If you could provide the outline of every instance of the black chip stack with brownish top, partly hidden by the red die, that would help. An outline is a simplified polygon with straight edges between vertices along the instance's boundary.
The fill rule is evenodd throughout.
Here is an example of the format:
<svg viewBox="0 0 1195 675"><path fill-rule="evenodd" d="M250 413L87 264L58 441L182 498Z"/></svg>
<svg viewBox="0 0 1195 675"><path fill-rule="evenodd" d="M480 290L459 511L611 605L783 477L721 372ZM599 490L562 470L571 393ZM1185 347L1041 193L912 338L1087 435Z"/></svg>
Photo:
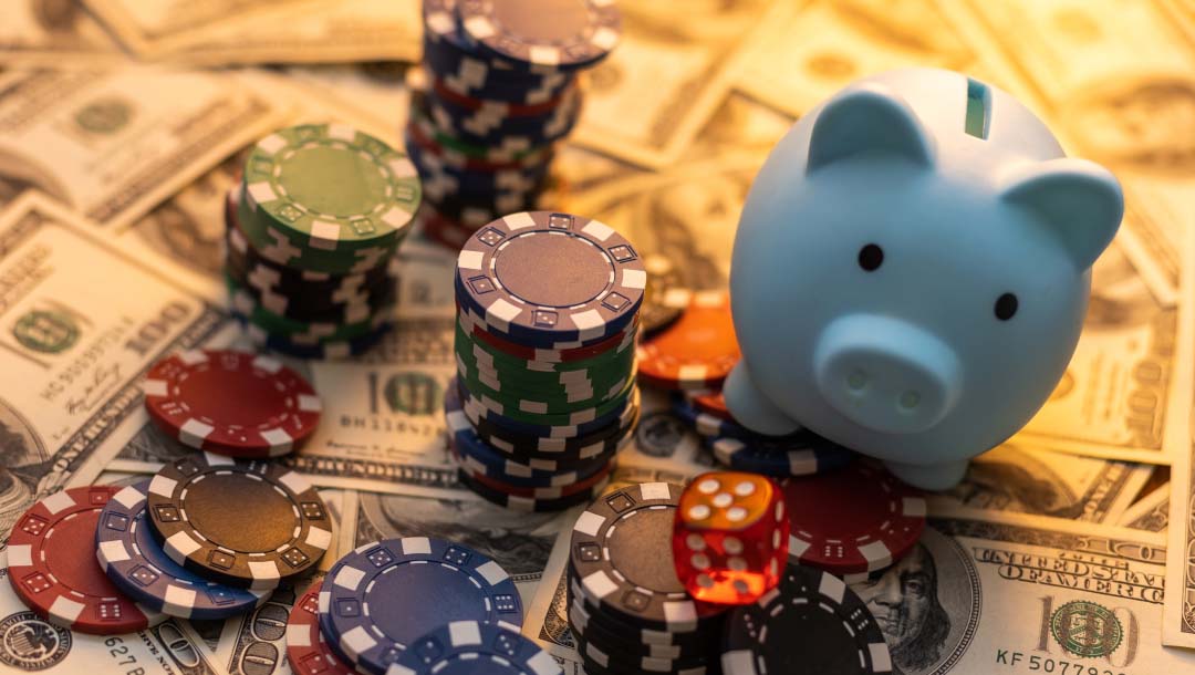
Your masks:
<svg viewBox="0 0 1195 675"><path fill-rule="evenodd" d="M568 612L588 675L719 673L730 607L693 600L673 565L682 491L668 483L630 485L577 518Z"/></svg>

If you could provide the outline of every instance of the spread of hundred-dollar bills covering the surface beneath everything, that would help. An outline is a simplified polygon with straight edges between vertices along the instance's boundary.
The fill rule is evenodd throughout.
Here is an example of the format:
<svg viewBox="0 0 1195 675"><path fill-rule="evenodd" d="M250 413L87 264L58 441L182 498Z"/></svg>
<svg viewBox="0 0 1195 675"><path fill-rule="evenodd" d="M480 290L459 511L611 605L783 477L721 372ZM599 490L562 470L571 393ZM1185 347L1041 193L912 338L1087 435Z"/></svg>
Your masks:
<svg viewBox="0 0 1195 675"><path fill-rule="evenodd" d="M856 590L906 675L1195 673L1195 1L621 8L625 39L590 73L582 125L556 164L558 207L673 258L693 288L725 284L739 210L772 145L869 73L974 74L1117 174L1128 213L1096 265L1062 383L932 501L918 552ZM0 530L37 496L129 480L180 452L147 424L136 381L166 351L235 339L219 266L239 153L284 123L333 118L397 145L418 53L417 0L0 4ZM557 536L575 514L515 517L455 483L429 395L452 373L454 256L409 240L402 258L398 331L360 362L307 366L327 410L294 465L327 487L342 550L425 533L498 559L529 607L525 633L578 671ZM81 326L38 360L22 356L37 336L13 311L33 288ZM112 348L129 344L142 358ZM664 401L651 405L619 479L709 466ZM0 624L26 612L7 589ZM66 636L51 668L286 673L294 595L223 625ZM1073 600L1120 619L1119 649L1079 659L1044 638ZM49 663L13 653L0 645L0 669Z"/></svg>

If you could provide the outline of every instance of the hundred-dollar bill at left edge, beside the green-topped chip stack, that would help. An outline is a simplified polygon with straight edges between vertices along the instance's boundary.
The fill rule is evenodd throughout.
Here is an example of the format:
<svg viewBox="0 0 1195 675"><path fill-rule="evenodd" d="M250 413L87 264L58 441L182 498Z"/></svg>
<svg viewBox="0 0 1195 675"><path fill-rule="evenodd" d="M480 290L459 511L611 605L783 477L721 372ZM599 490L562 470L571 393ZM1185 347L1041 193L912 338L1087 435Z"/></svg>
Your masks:
<svg viewBox="0 0 1195 675"><path fill-rule="evenodd" d="M0 214L0 532L35 498L91 483L143 416L141 375L212 339L222 313L170 268L111 247L37 195Z"/></svg>

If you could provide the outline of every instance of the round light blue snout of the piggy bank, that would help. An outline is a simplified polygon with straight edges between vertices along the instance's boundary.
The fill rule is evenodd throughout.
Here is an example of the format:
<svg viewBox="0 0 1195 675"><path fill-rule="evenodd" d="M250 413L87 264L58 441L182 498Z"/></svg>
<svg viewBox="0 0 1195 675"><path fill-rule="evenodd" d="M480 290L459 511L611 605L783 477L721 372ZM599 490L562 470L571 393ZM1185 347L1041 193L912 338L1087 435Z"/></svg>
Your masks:
<svg viewBox="0 0 1195 675"><path fill-rule="evenodd" d="M901 319L839 318L814 351L822 398L860 427L912 434L940 422L962 391L958 356L942 339Z"/></svg>

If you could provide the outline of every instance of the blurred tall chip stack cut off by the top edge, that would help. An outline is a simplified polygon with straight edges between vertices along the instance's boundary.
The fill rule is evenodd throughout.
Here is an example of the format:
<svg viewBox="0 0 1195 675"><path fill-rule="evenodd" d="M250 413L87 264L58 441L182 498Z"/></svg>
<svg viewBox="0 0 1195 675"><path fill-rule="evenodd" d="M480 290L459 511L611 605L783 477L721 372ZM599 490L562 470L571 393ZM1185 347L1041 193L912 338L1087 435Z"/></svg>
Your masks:
<svg viewBox="0 0 1195 675"><path fill-rule="evenodd" d="M423 25L406 146L424 233L458 248L540 202L581 113L577 75L614 48L621 17L609 0L424 0Z"/></svg>

